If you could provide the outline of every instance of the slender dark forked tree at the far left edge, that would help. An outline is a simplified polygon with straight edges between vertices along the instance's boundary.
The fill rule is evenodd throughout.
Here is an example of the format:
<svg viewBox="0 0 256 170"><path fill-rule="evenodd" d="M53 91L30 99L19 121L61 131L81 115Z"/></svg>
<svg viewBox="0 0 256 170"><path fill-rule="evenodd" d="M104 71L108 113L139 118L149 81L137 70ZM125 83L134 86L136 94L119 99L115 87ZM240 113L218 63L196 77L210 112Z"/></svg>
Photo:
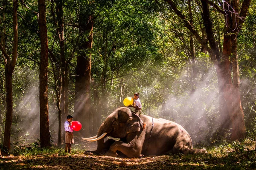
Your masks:
<svg viewBox="0 0 256 170"><path fill-rule="evenodd" d="M18 20L17 20L18 0L13 0L13 48L12 59L6 53L4 45L0 43L0 49L3 53L5 62L5 76L6 76L6 123L3 138L3 146L7 150L11 149L11 127L12 127L12 113L13 113L13 98L12 98L12 74L17 61L17 47L18 47Z"/></svg>

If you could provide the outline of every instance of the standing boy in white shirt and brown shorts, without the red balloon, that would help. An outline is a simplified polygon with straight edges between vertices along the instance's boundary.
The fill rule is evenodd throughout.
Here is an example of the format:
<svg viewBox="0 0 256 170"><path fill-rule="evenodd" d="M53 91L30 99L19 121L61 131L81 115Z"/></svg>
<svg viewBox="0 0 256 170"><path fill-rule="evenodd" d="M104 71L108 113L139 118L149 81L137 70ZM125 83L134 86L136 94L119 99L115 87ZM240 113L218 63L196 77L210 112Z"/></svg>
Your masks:
<svg viewBox="0 0 256 170"><path fill-rule="evenodd" d="M71 144L74 143L73 129L71 128L72 119L73 119L73 116L68 115L67 121L64 123L64 128L66 131L65 133L65 143L66 143L65 152L66 153L67 153L67 149L68 149L68 153L71 152Z"/></svg>

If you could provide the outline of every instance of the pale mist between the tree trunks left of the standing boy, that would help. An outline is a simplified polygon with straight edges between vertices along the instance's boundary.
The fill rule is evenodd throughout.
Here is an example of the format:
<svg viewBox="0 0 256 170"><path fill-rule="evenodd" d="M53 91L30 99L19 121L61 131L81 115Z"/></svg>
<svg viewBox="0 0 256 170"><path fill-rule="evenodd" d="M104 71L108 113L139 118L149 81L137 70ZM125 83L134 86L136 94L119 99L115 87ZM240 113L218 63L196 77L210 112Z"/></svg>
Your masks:
<svg viewBox="0 0 256 170"><path fill-rule="evenodd" d="M27 71L27 70L25 70ZM37 73L26 74L27 89L17 102L14 102L12 141L21 143L38 142L40 139L40 108L39 108L39 79ZM36 77L36 78L35 78ZM53 142L58 141L58 109L50 96L55 95L48 89L49 130Z"/></svg>

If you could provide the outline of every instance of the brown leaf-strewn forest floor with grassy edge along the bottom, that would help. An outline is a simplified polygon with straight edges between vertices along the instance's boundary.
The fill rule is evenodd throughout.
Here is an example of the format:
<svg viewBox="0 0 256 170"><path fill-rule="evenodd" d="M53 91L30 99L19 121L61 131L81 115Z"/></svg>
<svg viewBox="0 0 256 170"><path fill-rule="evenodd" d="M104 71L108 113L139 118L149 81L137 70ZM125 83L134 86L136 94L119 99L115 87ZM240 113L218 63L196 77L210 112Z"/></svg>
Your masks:
<svg viewBox="0 0 256 170"><path fill-rule="evenodd" d="M63 149L55 153L39 153L33 156L0 157L1 170L189 170L189 169L256 169L256 142L233 143L207 148L206 155L143 156L141 158L115 158L83 154L75 147L71 154ZM93 146L95 147L95 146Z"/></svg>

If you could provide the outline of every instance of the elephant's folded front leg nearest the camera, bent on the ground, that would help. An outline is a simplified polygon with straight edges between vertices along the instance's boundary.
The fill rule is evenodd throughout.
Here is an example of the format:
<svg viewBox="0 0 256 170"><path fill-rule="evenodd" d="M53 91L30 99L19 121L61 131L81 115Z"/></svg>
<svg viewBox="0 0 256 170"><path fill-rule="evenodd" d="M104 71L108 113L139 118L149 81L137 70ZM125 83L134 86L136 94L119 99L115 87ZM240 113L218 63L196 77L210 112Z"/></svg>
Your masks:
<svg viewBox="0 0 256 170"><path fill-rule="evenodd" d="M107 153L105 153L105 155L117 157L117 150L125 154L128 158L139 157L141 153L141 149L139 149L136 145L116 141L111 145L110 149Z"/></svg>

